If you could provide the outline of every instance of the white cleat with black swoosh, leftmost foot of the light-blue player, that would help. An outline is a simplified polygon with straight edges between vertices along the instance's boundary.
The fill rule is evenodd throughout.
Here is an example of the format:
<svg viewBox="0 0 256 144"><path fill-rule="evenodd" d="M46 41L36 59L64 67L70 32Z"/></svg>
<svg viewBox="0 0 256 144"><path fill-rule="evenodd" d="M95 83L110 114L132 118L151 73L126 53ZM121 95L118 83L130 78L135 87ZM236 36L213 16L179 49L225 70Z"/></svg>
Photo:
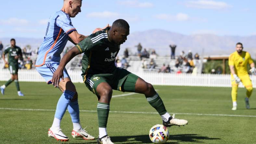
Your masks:
<svg viewBox="0 0 256 144"><path fill-rule="evenodd" d="M69 138L62 133L62 130L60 128L55 129L50 127L48 131L48 137L52 137L60 141L69 141Z"/></svg>

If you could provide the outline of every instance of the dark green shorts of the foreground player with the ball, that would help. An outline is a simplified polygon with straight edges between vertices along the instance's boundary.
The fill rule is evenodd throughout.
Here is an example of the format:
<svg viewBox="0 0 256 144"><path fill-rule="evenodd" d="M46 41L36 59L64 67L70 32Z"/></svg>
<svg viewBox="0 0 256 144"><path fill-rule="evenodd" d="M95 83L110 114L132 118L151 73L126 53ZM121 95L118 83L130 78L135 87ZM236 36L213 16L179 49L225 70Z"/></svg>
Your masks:
<svg viewBox="0 0 256 144"><path fill-rule="evenodd" d="M113 90L122 92L135 92L135 84L138 76L127 71L126 69L117 67L110 74L87 75L85 80L86 87L98 96L97 86L102 82L107 82Z"/></svg>

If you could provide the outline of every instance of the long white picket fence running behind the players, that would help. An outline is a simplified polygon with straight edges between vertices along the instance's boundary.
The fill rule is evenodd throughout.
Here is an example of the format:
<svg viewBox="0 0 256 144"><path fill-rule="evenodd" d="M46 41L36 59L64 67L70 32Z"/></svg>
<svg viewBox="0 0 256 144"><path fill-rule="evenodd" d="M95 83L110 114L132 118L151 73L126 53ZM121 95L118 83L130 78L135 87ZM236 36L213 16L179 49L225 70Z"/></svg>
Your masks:
<svg viewBox="0 0 256 144"><path fill-rule="evenodd" d="M68 71L72 82L83 82L81 71ZM172 86L205 86L205 87L231 87L230 75L211 74L171 74L171 73L136 73L139 77L153 85ZM0 70L0 80L6 81L10 78L8 69ZM250 76L252 85L256 88L256 76ZM45 82L44 78L35 70L19 70L19 81ZM239 87L243 87L242 83Z"/></svg>

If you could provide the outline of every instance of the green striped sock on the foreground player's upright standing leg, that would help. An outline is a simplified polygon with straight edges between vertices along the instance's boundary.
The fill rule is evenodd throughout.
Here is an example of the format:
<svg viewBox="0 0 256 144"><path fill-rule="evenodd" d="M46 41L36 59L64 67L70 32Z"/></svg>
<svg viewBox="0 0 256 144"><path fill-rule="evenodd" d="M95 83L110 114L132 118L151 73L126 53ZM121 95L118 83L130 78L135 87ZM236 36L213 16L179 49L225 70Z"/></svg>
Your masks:
<svg viewBox="0 0 256 144"><path fill-rule="evenodd" d="M97 112L99 127L107 127L109 117L109 103L98 102Z"/></svg>

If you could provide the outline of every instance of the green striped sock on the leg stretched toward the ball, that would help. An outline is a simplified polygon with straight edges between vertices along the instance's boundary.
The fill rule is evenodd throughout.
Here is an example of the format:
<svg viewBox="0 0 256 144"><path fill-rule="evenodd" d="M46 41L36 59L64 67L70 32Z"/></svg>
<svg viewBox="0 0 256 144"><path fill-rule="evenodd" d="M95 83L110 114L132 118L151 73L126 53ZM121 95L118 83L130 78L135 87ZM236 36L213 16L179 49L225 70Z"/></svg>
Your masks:
<svg viewBox="0 0 256 144"><path fill-rule="evenodd" d="M163 101L159 97L158 93L156 93L152 97L147 97L147 102L149 102L149 104L153 108L155 108L160 115L163 115L167 112L166 109L165 109L165 106L163 104Z"/></svg>

